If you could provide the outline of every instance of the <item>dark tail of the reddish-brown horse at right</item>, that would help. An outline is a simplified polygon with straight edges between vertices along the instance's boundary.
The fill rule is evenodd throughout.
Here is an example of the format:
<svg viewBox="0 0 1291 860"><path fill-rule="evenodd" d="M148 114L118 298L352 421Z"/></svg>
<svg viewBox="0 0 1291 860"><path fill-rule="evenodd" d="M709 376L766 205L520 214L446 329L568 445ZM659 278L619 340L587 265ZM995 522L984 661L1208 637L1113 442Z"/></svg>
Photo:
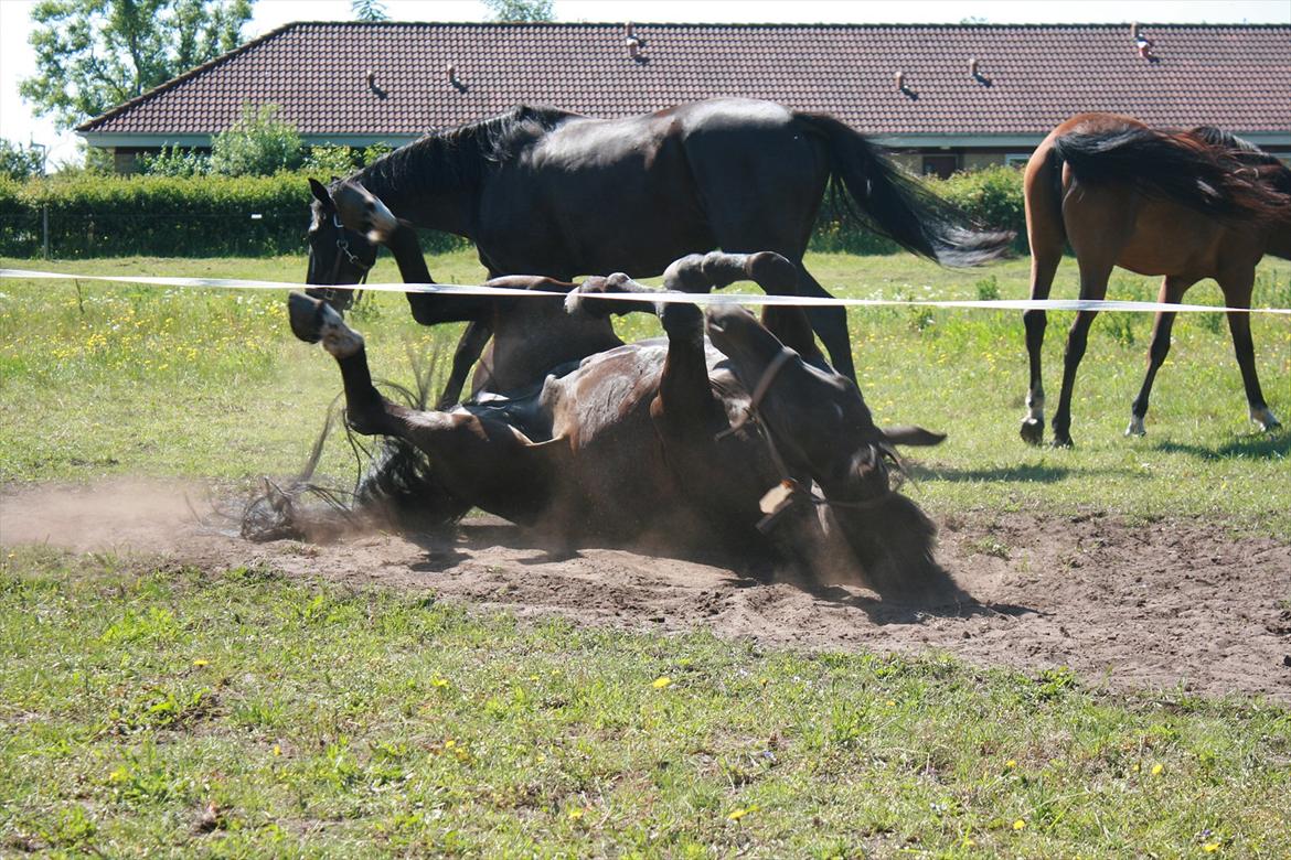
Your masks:
<svg viewBox="0 0 1291 860"><path fill-rule="evenodd" d="M1291 211L1291 196L1265 182L1238 148L1190 134L1127 128L1064 134L1053 152L1081 182L1124 182L1223 220L1268 220Z"/></svg>

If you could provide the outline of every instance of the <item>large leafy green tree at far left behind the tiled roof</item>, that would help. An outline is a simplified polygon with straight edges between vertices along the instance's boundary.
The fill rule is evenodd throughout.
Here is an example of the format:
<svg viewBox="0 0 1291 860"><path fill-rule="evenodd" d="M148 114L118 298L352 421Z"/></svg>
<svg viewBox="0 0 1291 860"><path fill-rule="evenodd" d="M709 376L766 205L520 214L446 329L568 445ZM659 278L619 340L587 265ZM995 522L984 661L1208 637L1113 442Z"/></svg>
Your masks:
<svg viewBox="0 0 1291 860"><path fill-rule="evenodd" d="M68 128L232 50L254 0L40 0L18 92Z"/></svg>

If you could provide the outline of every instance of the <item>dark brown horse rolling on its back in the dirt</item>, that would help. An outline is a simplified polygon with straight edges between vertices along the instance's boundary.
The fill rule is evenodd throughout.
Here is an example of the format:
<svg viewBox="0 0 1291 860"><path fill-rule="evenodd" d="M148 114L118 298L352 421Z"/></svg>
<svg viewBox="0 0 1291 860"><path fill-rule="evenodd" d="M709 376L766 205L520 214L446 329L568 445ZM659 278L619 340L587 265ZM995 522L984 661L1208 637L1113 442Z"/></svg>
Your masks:
<svg viewBox="0 0 1291 860"><path fill-rule="evenodd" d="M336 200L345 223L391 248L404 277L429 276L409 226L380 200L352 183ZM714 251L670 264L664 290L621 273L581 285L510 279L513 288L565 293L555 300L571 316L657 313L666 338L545 366L537 386L451 410L385 400L372 386L361 335L328 303L294 293L289 318L298 337L321 340L336 357L350 425L427 456L422 504L449 518L479 507L560 548L651 540L683 554L769 554L813 571L859 566L884 596L945 593L953 584L932 558L935 529L892 486L893 445L935 445L944 436L877 427L856 386L825 362L800 308L768 308L759 324L740 308L705 315L652 300L741 280L773 290L797 277L778 254ZM598 300L605 293L642 300ZM492 304L503 324L531 318L518 302L551 300L440 298L461 299L463 317ZM513 331L500 326L498 340ZM514 346L522 364L551 360L533 339ZM778 493L769 503L768 489Z"/></svg>

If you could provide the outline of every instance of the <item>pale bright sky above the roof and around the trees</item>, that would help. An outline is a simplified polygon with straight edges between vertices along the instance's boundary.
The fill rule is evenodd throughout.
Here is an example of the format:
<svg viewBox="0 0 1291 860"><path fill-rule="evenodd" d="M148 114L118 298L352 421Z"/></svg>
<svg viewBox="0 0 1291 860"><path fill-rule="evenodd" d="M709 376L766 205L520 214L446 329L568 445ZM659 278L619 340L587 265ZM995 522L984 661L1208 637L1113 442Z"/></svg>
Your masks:
<svg viewBox="0 0 1291 860"><path fill-rule="evenodd" d="M0 0L0 137L49 147L49 164L77 159L72 133L32 115L18 81L35 72L27 44L35 0ZM394 21L487 21L478 0L383 0ZM1291 23L1291 0L555 0L556 21L705 23ZM258 0L243 35L292 21L349 21L350 0Z"/></svg>

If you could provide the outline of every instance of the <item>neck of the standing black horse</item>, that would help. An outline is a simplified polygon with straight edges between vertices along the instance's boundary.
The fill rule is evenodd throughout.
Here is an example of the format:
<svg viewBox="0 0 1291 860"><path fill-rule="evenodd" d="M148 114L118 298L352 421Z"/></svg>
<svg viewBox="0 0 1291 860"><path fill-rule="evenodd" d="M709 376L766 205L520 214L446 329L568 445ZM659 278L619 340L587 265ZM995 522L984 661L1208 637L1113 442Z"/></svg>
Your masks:
<svg viewBox="0 0 1291 860"><path fill-rule="evenodd" d="M479 188L474 173L461 164L469 157L438 138L423 138L378 159L351 179L413 227L474 240Z"/></svg>

